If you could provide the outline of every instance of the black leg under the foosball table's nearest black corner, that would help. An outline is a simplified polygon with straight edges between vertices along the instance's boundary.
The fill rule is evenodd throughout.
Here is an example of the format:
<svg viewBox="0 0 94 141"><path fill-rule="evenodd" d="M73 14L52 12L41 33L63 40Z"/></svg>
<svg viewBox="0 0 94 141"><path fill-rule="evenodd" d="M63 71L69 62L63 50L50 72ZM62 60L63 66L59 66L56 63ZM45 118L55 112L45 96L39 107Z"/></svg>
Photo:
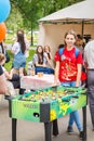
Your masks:
<svg viewBox="0 0 94 141"><path fill-rule="evenodd" d="M45 141L52 141L52 121L44 123Z"/></svg>

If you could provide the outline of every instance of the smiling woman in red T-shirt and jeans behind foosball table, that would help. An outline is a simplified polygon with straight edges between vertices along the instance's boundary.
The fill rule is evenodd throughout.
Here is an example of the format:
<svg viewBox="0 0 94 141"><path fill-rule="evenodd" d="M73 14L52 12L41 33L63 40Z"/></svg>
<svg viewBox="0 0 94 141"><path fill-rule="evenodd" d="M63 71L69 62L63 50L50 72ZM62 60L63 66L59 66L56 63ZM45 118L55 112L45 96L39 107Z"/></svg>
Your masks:
<svg viewBox="0 0 94 141"><path fill-rule="evenodd" d="M79 51L78 56L76 56L76 39L77 35L73 30L68 30L65 34L65 47L63 54L59 55L57 51L54 60L56 62L55 67L55 77L54 77L54 85L57 84L59 79L61 85L65 87L79 87L81 85L81 67L82 67L82 53ZM69 123L67 132L72 133L72 125L73 121L76 123L78 130L80 132L80 139L83 138L83 127L80 121L79 112L75 111L69 115Z"/></svg>

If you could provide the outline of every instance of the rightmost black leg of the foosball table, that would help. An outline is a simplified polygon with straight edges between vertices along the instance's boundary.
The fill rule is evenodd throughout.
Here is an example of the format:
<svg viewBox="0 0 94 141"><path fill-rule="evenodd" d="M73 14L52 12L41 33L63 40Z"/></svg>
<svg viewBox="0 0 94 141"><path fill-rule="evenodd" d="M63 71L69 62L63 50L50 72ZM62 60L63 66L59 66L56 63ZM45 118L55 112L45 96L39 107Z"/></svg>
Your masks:
<svg viewBox="0 0 94 141"><path fill-rule="evenodd" d="M83 112L83 141L86 141L86 106L82 107Z"/></svg>

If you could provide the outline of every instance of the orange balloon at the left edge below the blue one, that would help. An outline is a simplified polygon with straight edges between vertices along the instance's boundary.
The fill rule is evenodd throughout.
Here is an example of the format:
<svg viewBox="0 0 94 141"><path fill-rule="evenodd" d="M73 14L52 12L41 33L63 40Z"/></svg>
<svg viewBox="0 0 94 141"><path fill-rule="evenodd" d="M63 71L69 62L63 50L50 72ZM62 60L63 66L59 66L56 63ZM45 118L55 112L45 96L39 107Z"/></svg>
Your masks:
<svg viewBox="0 0 94 141"><path fill-rule="evenodd" d="M6 27L4 23L0 24L0 42L3 41L3 39L5 38L5 34L6 34Z"/></svg>

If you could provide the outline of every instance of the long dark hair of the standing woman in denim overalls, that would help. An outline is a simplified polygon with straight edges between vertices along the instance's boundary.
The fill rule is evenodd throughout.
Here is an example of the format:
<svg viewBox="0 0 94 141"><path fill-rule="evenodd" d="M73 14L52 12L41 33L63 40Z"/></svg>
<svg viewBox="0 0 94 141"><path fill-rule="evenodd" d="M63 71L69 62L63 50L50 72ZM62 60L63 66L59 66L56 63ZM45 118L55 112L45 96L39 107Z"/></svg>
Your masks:
<svg viewBox="0 0 94 141"><path fill-rule="evenodd" d="M22 52L25 53L26 43L25 43L25 39L24 39L24 34L23 33L17 33L17 41L21 44Z"/></svg>

